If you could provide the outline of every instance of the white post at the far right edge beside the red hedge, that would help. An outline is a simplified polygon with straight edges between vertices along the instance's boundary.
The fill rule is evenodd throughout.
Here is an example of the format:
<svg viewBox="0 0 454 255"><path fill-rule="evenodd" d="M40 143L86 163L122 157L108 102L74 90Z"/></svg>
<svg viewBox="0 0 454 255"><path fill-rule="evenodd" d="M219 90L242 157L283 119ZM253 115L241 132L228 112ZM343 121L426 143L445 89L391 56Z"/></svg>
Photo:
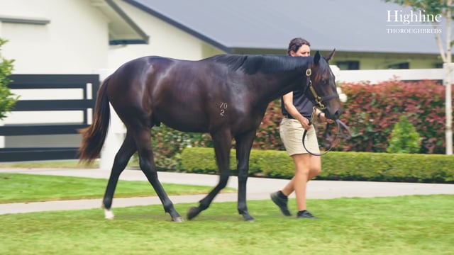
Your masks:
<svg viewBox="0 0 454 255"><path fill-rule="evenodd" d="M451 84L453 84L453 70L454 63L445 63L443 64L443 69L445 70L445 79L443 84L445 85L445 117L446 117L446 126L445 126L445 137L446 137L446 154L453 154L453 98L451 96L452 89Z"/></svg>

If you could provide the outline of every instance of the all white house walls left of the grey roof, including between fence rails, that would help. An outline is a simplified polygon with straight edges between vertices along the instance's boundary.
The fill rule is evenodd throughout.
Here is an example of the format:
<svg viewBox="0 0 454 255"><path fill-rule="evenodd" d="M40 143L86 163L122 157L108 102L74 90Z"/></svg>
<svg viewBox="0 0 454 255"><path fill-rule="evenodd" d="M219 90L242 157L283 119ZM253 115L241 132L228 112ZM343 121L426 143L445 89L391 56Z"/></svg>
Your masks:
<svg viewBox="0 0 454 255"><path fill-rule="evenodd" d="M138 8L116 1L128 16L150 36L148 45L109 46L109 19L93 4L96 0L0 0L0 17L49 21L47 24L0 22L2 57L14 61L13 74L101 74L101 79L124 62L136 57L160 55L199 60L222 53L182 30L160 21ZM55 95L27 95L13 90L22 99ZM70 92L79 97L79 91ZM82 96L81 96L82 97ZM82 116L70 112L12 112L0 125L21 123L78 123ZM78 146L79 135L33 135L0 137L0 147Z"/></svg>

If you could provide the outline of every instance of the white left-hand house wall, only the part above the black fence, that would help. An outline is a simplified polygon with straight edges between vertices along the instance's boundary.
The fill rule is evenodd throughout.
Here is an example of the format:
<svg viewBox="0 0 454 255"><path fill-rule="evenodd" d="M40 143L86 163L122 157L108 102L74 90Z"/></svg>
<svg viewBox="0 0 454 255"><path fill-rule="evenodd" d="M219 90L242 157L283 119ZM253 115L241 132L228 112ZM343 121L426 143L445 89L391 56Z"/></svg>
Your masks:
<svg viewBox="0 0 454 255"><path fill-rule="evenodd" d="M0 0L0 16L50 21L0 22L14 74L95 74L107 66L108 21L89 0Z"/></svg>

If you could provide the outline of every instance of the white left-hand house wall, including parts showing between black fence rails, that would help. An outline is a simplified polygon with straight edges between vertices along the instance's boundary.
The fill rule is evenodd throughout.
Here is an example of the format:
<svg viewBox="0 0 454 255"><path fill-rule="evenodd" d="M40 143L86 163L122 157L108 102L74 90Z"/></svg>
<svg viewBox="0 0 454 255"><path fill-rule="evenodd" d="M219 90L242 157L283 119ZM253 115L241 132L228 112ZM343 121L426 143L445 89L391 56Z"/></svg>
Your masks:
<svg viewBox="0 0 454 255"><path fill-rule="evenodd" d="M45 25L0 22L2 57L13 62L13 74L97 74L108 66L108 19L90 0L0 0L0 17L48 20ZM21 99L83 98L82 91L12 90ZM82 113L11 112L0 125L80 123ZM0 137L0 147L74 147L80 135Z"/></svg>

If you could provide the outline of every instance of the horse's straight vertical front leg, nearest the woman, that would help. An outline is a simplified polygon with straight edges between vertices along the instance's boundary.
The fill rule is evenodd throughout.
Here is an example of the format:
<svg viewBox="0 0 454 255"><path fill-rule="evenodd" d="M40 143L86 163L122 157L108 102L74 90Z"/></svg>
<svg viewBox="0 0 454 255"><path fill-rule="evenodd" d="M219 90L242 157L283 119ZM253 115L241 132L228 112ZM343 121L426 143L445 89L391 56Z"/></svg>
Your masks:
<svg viewBox="0 0 454 255"><path fill-rule="evenodd" d="M246 183L248 181L250 149L253 146L255 130L237 136L236 139L236 160L238 170L238 213L243 215L244 220L253 222L246 204Z"/></svg>

